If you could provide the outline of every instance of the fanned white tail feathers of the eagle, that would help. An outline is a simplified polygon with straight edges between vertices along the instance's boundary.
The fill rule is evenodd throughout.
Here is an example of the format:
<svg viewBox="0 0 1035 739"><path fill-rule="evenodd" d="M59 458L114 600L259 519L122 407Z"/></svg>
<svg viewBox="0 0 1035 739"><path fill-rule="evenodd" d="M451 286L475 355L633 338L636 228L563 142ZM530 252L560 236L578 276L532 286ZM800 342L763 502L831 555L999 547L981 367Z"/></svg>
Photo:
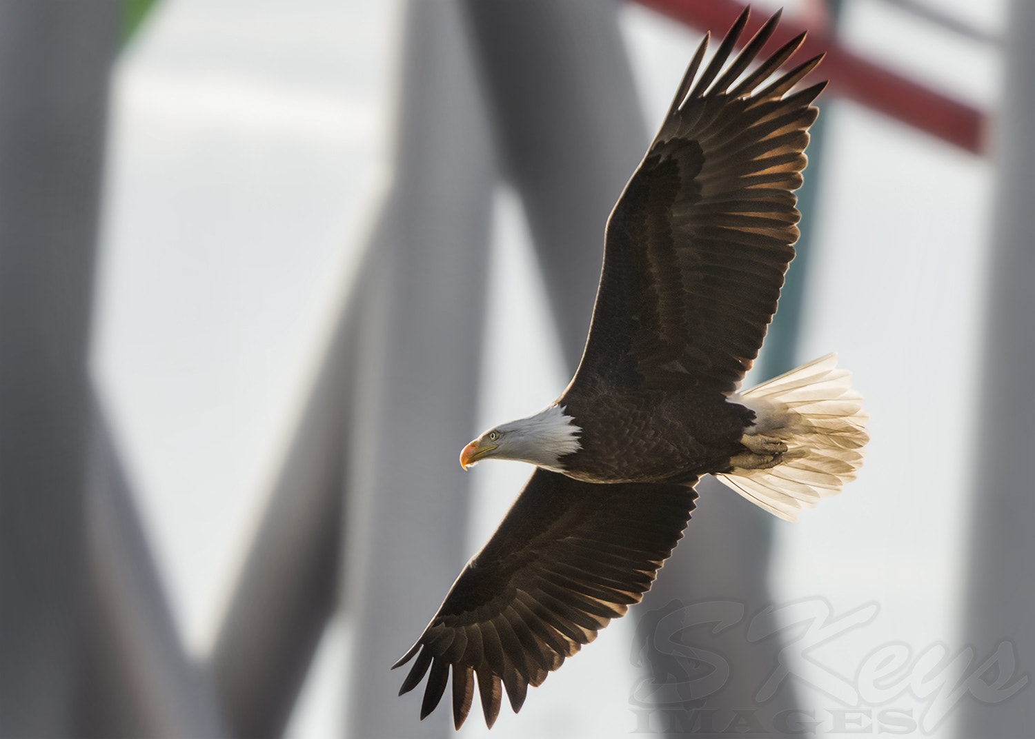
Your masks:
<svg viewBox="0 0 1035 739"><path fill-rule="evenodd" d="M852 375L827 355L730 398L755 411L747 434L763 434L788 445L782 461L768 469L716 474L756 505L787 521L822 497L836 495L855 480L869 440L862 396Z"/></svg>

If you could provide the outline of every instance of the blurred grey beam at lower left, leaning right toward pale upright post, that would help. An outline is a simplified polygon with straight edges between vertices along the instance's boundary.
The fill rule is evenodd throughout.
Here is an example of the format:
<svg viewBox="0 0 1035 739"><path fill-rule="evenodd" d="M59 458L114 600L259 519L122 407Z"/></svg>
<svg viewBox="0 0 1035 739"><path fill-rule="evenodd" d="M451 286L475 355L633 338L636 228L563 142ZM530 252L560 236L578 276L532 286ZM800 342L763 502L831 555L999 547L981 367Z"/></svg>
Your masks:
<svg viewBox="0 0 1035 739"><path fill-rule="evenodd" d="M227 722L241 739L284 733L337 606L347 423L368 278L361 269L342 310L212 654Z"/></svg>

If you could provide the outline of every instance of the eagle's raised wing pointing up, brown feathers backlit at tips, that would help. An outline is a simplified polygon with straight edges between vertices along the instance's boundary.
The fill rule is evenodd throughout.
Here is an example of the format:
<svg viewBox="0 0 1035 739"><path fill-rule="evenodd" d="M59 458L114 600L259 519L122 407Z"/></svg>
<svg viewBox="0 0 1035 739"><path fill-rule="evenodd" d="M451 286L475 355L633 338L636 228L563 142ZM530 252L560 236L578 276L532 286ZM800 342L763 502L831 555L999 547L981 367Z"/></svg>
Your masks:
<svg viewBox="0 0 1035 739"><path fill-rule="evenodd" d="M804 34L738 81L778 16L719 76L745 10L694 84L707 36L698 49L608 221L593 322L572 388L603 380L730 393L758 356L798 239L792 191L801 186L816 120L809 103L826 84L788 94L817 57L761 87Z"/></svg>

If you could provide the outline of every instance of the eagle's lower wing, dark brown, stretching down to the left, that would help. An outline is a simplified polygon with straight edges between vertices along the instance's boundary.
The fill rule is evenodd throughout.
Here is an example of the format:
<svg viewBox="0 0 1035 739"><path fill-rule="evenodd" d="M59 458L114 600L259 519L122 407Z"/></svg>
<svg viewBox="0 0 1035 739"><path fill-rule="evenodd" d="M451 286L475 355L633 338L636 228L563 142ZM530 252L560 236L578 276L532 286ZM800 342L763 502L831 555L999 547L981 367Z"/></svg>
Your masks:
<svg viewBox="0 0 1035 739"><path fill-rule="evenodd" d="M514 711L612 618L625 614L672 554L697 493L683 485L582 483L536 469L492 538L464 568L413 648L400 695L431 669L420 707L438 705L452 671L453 723L478 682L485 722L500 683Z"/></svg>

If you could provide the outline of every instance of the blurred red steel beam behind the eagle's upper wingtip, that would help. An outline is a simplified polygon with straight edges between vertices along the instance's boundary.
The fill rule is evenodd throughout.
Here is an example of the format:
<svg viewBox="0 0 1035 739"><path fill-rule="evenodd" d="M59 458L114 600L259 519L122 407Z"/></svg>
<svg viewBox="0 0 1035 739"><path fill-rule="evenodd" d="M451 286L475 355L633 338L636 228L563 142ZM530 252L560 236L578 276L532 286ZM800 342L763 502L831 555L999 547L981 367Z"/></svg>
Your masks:
<svg viewBox="0 0 1035 739"><path fill-rule="evenodd" d="M736 0L638 1L663 16L694 28L711 29L719 35L744 9L744 4ZM764 13L752 13L741 39L746 42L765 21ZM775 51L804 30L805 27L794 19L781 20L766 50ZM829 78L834 94L880 111L969 152L985 153L987 116L984 112L863 59L824 31L810 30L801 50L796 58L826 53L823 64L814 74Z"/></svg>

